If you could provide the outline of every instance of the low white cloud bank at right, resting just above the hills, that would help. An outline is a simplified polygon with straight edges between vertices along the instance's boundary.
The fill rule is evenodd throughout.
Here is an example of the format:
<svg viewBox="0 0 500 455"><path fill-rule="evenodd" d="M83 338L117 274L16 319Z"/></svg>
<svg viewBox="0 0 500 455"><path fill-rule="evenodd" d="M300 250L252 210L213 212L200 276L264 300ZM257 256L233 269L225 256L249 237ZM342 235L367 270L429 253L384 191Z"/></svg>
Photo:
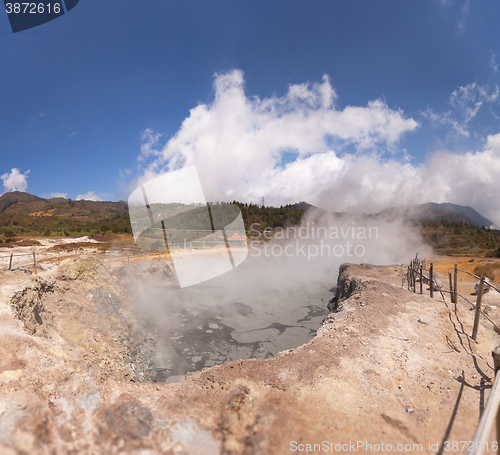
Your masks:
<svg viewBox="0 0 500 455"><path fill-rule="evenodd" d="M306 200L331 211L374 213L385 207L451 202L472 206L500 225L500 134L489 136L484 149L456 155L437 152L414 166L376 155L317 154L276 173L266 200ZM276 201L276 199L275 199ZM270 201L271 202L271 201Z"/></svg>

